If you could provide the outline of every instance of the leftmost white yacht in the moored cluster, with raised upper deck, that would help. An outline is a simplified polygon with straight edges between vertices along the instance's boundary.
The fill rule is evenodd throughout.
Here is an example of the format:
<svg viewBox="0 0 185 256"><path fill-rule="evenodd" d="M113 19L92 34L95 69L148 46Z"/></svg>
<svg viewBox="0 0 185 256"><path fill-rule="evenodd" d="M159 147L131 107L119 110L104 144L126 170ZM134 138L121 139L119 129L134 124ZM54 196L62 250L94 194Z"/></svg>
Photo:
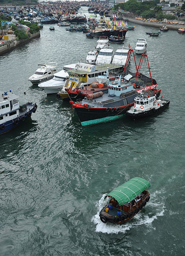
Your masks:
<svg viewBox="0 0 185 256"><path fill-rule="evenodd" d="M39 84L40 82L49 80L56 73L56 62L46 62L45 65L38 64L38 66L40 66L40 68L38 68L36 72L29 77L32 84Z"/></svg>

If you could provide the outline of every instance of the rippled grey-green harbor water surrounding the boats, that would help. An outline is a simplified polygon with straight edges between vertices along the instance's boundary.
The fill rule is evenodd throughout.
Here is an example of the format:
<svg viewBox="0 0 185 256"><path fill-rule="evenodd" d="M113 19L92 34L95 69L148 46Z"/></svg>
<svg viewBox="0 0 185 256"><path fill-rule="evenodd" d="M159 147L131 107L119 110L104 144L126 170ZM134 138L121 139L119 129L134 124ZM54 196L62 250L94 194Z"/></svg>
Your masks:
<svg viewBox="0 0 185 256"><path fill-rule="evenodd" d="M80 10L88 16L87 9ZM124 42L134 48L146 38L151 74L169 108L137 122L82 127L69 102L46 96L28 78L47 61L58 62L58 71L83 62L97 38L49 26L0 56L1 91L38 105L24 126L1 135L0 256L185 255L185 35L169 30L153 38L145 32L157 28L135 24ZM105 194L137 176L151 184L149 203L126 224L103 224Z"/></svg>

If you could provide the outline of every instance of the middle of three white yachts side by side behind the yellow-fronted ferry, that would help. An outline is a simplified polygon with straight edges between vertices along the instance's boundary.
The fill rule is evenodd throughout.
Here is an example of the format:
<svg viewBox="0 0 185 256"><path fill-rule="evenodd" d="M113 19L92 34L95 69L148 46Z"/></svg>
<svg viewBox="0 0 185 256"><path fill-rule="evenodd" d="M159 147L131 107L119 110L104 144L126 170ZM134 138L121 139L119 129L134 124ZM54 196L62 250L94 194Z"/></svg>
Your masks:
<svg viewBox="0 0 185 256"><path fill-rule="evenodd" d="M99 51L96 64L110 64L113 59L113 47L106 46Z"/></svg>

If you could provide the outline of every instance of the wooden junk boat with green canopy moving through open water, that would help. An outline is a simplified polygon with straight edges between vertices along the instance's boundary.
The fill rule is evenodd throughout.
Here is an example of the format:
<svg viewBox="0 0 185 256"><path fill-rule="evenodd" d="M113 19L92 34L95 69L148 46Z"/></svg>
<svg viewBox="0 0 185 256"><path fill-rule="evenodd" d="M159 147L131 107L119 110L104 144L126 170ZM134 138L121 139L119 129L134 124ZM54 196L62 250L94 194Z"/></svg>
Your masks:
<svg viewBox="0 0 185 256"><path fill-rule="evenodd" d="M123 224L131 220L150 199L147 180L132 178L105 196L105 206L99 212L103 223Z"/></svg>

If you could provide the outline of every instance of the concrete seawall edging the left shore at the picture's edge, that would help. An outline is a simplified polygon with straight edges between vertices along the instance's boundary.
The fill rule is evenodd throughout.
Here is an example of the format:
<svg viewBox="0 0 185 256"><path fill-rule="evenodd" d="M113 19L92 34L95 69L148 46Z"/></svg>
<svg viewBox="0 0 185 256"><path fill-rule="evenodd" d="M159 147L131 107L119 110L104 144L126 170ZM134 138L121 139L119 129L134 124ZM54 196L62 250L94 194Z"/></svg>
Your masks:
<svg viewBox="0 0 185 256"><path fill-rule="evenodd" d="M0 47L0 55L5 54L6 52L10 52L14 49L16 49L18 46L22 46L28 42L30 42L33 38L38 38L40 37L40 31L31 34L30 38L25 39L25 40L14 40L13 42L8 42L7 44L3 45Z"/></svg>

